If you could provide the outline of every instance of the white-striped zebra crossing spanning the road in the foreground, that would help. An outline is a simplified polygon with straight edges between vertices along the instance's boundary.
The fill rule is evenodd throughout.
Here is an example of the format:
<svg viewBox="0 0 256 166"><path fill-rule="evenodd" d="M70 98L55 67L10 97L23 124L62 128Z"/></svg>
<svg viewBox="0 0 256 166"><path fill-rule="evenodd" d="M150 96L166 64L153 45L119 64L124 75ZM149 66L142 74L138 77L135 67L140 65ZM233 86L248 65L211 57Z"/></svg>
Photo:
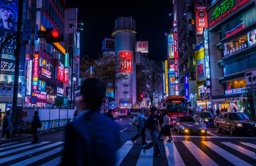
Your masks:
<svg viewBox="0 0 256 166"><path fill-rule="evenodd" d="M3 144L3 146L6 146L6 148L0 152L0 164L4 163L5 165L7 165L9 163L8 165L12 165L12 166L28 165L28 164L52 166L52 165L61 164L62 156L60 155L61 155L61 152L63 151L64 142L62 141L61 142L40 142L37 144L27 145L28 143L29 142L24 142L24 143L10 142L10 143ZM202 141L202 143L217 153L215 154L215 157L213 155L213 158L211 158L211 156L209 155L209 152L206 153L205 151L206 149L202 149L203 147L199 146L199 144L196 142L175 141L175 142L168 142L168 143L164 142L163 144L161 143L161 146L164 146L164 150L165 150L165 154L161 154L161 160L165 160L165 161L167 160L166 163L169 166L187 165L189 164L188 160L190 157L190 156L187 156L187 154L191 152L193 156L190 157L190 159L194 160L193 163L198 163L198 164L200 163L201 165L214 166L214 165L217 165L218 162L221 163L221 161L218 161L218 158L216 157L216 155L224 157L226 159L225 160L226 163L230 163L230 164L232 163L234 165L250 165L250 163L252 164L254 162L254 161L248 161L248 158L243 159L241 155L235 156L231 154L232 152L228 152L227 150L224 150L223 148L221 148L224 145L226 145L232 149L235 149L243 153L246 156L251 157L252 158L251 160L255 160L255 163L256 163L256 155L254 151L248 150L249 148L246 149L232 142L221 142L222 144L224 144L222 146L220 143L216 144L211 141ZM249 146L250 149L251 148L256 149L256 145L253 143L249 143L249 142L240 142L240 143L246 146ZM17 145L17 148L15 148L14 144ZM125 161L127 161L128 158L129 159L134 158L135 160L137 160L137 161L134 161L134 163L136 163L136 166L156 165L155 163L156 161L153 159L153 153L154 153L153 147L146 150L145 153L143 152L143 150L141 150L139 153L138 151L134 153L135 150L138 150L138 148L137 147L133 148L133 146L142 147L142 145L139 145L139 144L134 145L131 141L127 141L118 149L118 151L116 152L116 165L120 165L122 161L124 161L124 159ZM184 146L186 147L185 149L184 149ZM50 157L49 158L50 160L47 159L48 157ZM250 163L247 163L246 161ZM39 164L37 164L38 162Z"/></svg>

